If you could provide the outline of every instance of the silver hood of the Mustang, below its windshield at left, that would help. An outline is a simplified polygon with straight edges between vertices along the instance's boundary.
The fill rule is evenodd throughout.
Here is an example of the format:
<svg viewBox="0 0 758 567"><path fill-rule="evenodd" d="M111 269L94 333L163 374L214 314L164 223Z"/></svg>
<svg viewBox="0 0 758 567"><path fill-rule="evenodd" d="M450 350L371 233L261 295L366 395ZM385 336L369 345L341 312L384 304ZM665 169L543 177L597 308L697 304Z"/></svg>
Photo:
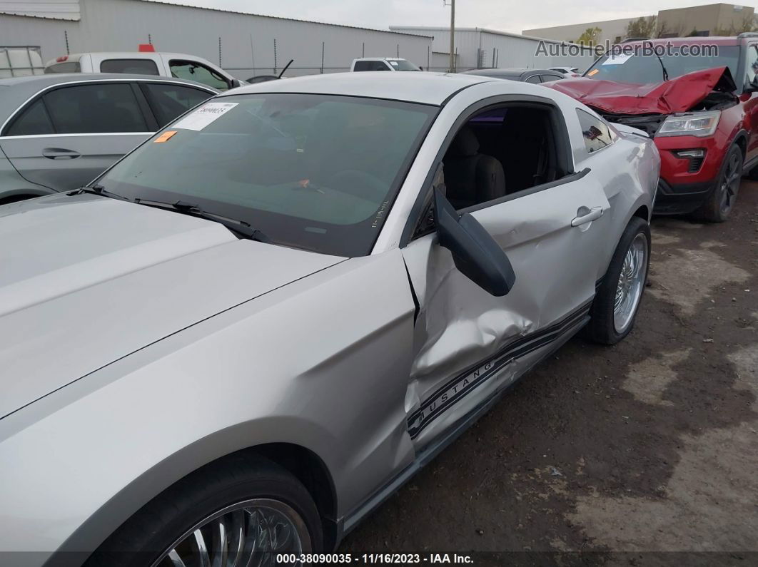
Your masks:
<svg viewBox="0 0 758 567"><path fill-rule="evenodd" d="M98 195L0 207L0 418L341 260Z"/></svg>

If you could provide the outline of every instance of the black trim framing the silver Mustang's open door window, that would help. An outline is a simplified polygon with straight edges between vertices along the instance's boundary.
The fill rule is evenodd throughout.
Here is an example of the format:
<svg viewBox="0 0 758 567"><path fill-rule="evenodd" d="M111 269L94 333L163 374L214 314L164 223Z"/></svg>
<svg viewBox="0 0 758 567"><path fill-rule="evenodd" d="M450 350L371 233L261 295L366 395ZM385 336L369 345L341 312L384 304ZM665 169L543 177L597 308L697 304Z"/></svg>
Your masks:
<svg viewBox="0 0 758 567"><path fill-rule="evenodd" d="M556 104L555 101L550 98L544 98L536 95L497 95L483 98L481 101L477 101L474 104L471 104L471 106L462 111L462 113L459 114L459 116L456 118L453 126L449 129L449 132L447 132L445 139L440 145L440 149L437 151L437 156L434 157L434 162L432 162L432 165L429 168L429 172L424 179L424 183L421 185L421 191L419 191L418 195L416 195L416 199L413 203L413 206L411 207L411 212L406 219L406 226L404 226L402 229L398 248L406 248L406 246L409 245L410 242L412 242L415 238L421 237L421 235L415 235L414 232L416 226L418 226L418 223L421 220L421 215L423 215L427 209L427 204L429 202L427 195L431 191L434 175L437 173L437 168L440 166L447 148L449 148L450 143L453 142L453 138L455 138L456 134L459 132L462 126L464 126L464 124L467 123L468 120L470 120L471 117L473 117L475 114L480 114L481 112L490 110L490 108L494 109L496 107L508 106L509 104L533 104L541 107L547 106L550 108L551 118L553 120L556 120L556 126L558 130L555 132L556 145L558 146L558 148L556 148L556 165L560 171L565 173L559 179L555 179L547 183L542 183L541 185L535 185L534 187L524 189L522 191L513 193L512 195L506 195L505 197L493 199L492 201L486 201L484 203L473 205L472 207L466 207L465 209L461 209L461 211L471 212L473 210L492 207L493 205L506 201L512 201L515 198L533 195L534 193L544 191L558 185L563 185L565 183L570 183L576 179L581 179L581 177L584 177L587 175L587 173L589 173L590 170L588 168L585 168L579 173L576 173L574 170L573 149L571 137L568 135L568 125L565 122L565 117L563 116L560 107Z"/></svg>

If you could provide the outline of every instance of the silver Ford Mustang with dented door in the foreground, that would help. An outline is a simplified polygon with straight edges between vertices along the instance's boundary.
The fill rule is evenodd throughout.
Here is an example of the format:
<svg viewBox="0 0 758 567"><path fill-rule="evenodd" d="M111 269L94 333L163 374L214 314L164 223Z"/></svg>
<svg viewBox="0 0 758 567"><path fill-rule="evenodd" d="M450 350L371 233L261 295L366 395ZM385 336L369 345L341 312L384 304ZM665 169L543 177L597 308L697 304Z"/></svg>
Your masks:
<svg viewBox="0 0 758 567"><path fill-rule="evenodd" d="M630 332L659 156L622 128L528 83L288 79L0 207L0 562L333 550L580 329Z"/></svg>

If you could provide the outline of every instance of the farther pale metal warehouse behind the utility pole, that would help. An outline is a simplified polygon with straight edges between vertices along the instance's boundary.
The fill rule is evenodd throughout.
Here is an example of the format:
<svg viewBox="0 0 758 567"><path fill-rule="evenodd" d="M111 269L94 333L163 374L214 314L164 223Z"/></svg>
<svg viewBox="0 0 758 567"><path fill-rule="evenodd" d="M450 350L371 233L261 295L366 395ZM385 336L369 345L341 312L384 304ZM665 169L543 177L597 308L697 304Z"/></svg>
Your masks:
<svg viewBox="0 0 758 567"><path fill-rule="evenodd" d="M402 33L418 33L432 36L432 51L450 50L450 30L445 27L390 26L390 30ZM456 68L459 71L482 67L531 67L553 66L579 67L584 70L595 60L594 51L570 45L579 55L537 55L540 41L558 48L569 45L553 39L519 36L516 33L485 30L481 27L456 28ZM548 49L547 51L550 51ZM556 51L556 49L553 49Z"/></svg>

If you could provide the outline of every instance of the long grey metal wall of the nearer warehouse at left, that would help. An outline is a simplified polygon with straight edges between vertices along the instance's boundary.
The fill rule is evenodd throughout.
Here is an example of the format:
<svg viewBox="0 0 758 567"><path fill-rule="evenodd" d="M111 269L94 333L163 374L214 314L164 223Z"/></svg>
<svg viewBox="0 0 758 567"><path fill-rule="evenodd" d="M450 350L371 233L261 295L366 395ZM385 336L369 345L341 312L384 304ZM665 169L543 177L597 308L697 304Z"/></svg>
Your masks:
<svg viewBox="0 0 758 567"><path fill-rule="evenodd" d="M424 67L431 62L431 39L406 33L139 0L80 4L80 22L0 15L0 44L39 45L42 58L49 60L67 52L135 51L139 43L152 41L158 51L221 61L221 67L241 79L281 70L291 58L295 62L288 76L322 68L324 73L349 70L352 59L362 55L399 54Z"/></svg>

